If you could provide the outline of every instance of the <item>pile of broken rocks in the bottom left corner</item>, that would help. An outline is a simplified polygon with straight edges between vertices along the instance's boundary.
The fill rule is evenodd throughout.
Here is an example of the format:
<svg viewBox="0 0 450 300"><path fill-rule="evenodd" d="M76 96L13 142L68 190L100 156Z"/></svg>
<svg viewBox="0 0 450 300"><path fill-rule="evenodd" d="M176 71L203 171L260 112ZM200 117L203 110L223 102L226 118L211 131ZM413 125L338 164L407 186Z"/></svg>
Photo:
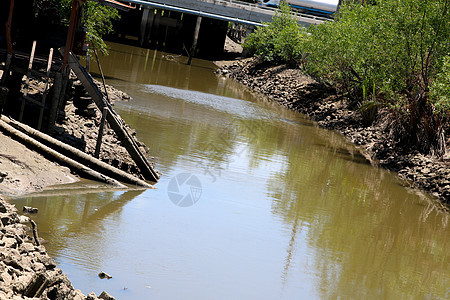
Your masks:
<svg viewBox="0 0 450 300"><path fill-rule="evenodd" d="M34 237L30 218L0 195L0 299L114 299L83 295Z"/></svg>

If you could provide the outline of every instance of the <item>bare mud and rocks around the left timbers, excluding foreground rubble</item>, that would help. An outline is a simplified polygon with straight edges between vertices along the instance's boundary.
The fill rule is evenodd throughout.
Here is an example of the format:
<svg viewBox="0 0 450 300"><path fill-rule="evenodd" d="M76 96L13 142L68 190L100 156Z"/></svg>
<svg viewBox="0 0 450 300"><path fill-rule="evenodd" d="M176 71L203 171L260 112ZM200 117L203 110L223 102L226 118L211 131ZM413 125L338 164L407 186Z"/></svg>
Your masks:
<svg viewBox="0 0 450 300"><path fill-rule="evenodd" d="M107 86L107 91L111 102L130 100L127 94L111 86ZM60 116L53 136L93 156L101 112L84 93L79 82L75 81L68 94L64 114ZM133 129L129 127L127 129L135 135ZM99 158L103 162L142 178L133 159L121 145L114 131L108 128L108 124L104 129L102 140ZM139 141L138 144L142 153L148 153L148 147ZM0 132L0 195L16 197L41 191L48 186L78 180L77 175L71 173L68 168L48 160Z"/></svg>

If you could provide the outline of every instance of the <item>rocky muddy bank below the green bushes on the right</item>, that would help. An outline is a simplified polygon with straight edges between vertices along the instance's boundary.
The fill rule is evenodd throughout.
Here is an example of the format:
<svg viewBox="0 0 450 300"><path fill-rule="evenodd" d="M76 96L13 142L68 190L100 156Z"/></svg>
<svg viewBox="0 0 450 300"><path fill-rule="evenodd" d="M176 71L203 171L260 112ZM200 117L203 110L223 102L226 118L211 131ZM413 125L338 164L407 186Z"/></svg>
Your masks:
<svg viewBox="0 0 450 300"><path fill-rule="evenodd" d="M396 147L396 141L388 138L391 122L387 111L381 109L373 115L362 113L353 108L348 99L305 76L299 69L261 66L254 59L219 62L217 65L219 74L308 115L322 127L341 132L360 147L373 165L397 172L406 184L450 204L448 157L435 158ZM449 142L447 139L447 149Z"/></svg>

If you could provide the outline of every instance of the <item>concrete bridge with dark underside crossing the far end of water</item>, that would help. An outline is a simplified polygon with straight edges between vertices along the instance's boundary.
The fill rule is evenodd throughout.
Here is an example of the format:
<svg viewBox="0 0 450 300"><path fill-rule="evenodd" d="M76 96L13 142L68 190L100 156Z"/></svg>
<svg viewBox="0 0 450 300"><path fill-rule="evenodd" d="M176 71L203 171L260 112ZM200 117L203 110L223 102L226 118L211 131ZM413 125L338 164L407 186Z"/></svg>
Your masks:
<svg viewBox="0 0 450 300"><path fill-rule="evenodd" d="M141 47L201 57L223 51L228 23L248 31L270 22L276 10L237 0L121 0L136 6L122 12L118 35ZM294 14L301 26L320 24L323 18Z"/></svg>

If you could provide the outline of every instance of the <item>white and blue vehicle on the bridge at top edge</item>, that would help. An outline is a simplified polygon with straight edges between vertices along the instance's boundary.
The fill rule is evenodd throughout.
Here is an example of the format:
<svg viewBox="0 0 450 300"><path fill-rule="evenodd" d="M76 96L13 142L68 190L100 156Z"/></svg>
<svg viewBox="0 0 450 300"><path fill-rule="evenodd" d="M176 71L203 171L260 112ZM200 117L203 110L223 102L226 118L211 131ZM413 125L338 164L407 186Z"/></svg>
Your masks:
<svg viewBox="0 0 450 300"><path fill-rule="evenodd" d="M331 18L338 10L340 0L285 0L296 11ZM268 7L280 6L280 0L258 0L258 3Z"/></svg>

